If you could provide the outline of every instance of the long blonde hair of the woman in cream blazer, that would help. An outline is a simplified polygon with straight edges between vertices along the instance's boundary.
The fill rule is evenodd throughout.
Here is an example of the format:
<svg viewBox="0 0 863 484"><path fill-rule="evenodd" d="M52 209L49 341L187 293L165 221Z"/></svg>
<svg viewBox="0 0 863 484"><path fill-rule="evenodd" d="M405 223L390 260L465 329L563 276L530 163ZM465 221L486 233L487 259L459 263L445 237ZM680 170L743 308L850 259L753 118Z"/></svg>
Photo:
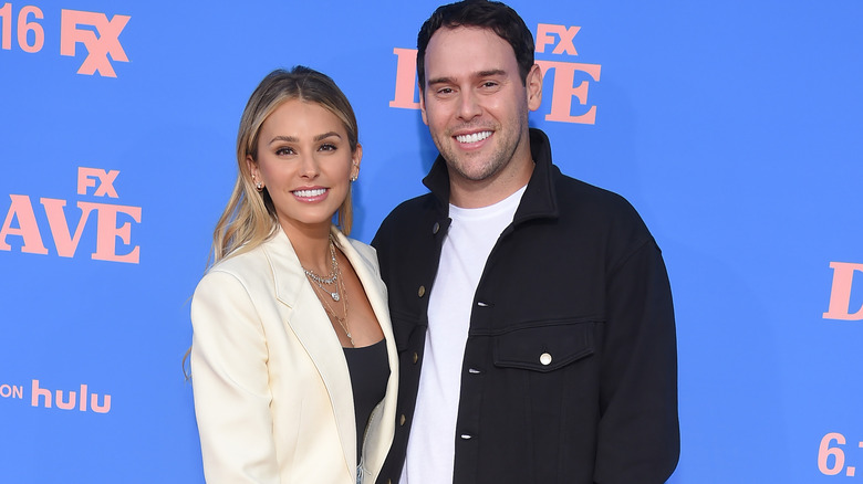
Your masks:
<svg viewBox="0 0 863 484"><path fill-rule="evenodd" d="M237 134L237 182L212 233L211 262L249 251L275 233L279 221L267 188L258 191L251 178L247 157L258 159L258 138L267 117L290 99L315 103L333 113L347 131L351 152L356 151L358 128L356 116L344 93L332 78L318 71L298 65L291 71L269 73L249 98ZM337 210L337 224L344 234L351 233L353 208L351 187Z"/></svg>

